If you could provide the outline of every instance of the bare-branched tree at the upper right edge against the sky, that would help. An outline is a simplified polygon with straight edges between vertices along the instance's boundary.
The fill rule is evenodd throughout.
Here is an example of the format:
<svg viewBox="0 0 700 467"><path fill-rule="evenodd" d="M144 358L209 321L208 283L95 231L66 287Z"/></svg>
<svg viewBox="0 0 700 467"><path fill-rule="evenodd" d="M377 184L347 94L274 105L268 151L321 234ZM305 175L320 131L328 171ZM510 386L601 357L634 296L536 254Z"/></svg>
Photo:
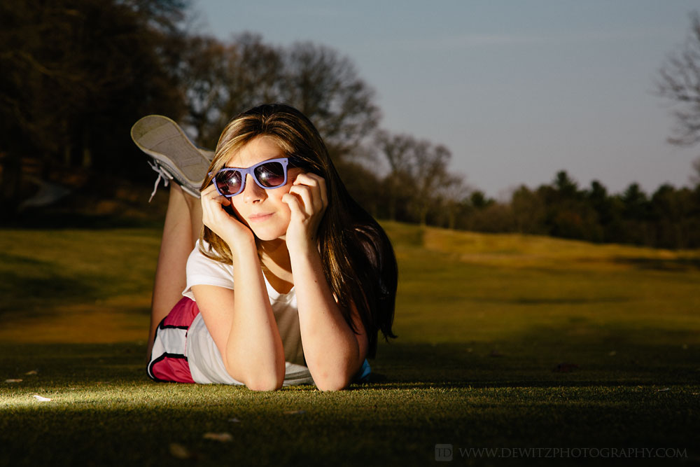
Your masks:
<svg viewBox="0 0 700 467"><path fill-rule="evenodd" d="M678 106L673 111L672 144L694 146L700 141L700 15L690 14L690 34L684 46L668 56L659 70L657 94Z"/></svg>

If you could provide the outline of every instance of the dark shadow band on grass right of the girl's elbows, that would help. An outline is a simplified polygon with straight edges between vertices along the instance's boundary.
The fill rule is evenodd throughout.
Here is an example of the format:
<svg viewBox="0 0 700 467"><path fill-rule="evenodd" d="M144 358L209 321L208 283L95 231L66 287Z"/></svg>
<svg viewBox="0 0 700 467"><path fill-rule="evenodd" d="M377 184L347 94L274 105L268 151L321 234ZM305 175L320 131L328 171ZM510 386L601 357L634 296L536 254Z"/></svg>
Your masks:
<svg viewBox="0 0 700 467"><path fill-rule="evenodd" d="M699 384L699 344L694 330L585 322L493 342L391 342L380 344L372 381L402 388Z"/></svg>

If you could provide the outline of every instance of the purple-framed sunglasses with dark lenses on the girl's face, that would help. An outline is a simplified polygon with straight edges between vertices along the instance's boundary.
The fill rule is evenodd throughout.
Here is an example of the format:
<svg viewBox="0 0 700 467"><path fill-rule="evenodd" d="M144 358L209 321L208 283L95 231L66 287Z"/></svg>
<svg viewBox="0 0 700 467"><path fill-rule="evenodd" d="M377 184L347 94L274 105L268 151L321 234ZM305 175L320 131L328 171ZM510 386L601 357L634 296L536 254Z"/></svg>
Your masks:
<svg viewBox="0 0 700 467"><path fill-rule="evenodd" d="M214 176L212 181L219 195L232 197L238 195L246 188L246 175L251 174L255 183L260 188L272 190L287 183L287 158L264 160L247 169L241 167L224 167L216 172L209 172Z"/></svg>

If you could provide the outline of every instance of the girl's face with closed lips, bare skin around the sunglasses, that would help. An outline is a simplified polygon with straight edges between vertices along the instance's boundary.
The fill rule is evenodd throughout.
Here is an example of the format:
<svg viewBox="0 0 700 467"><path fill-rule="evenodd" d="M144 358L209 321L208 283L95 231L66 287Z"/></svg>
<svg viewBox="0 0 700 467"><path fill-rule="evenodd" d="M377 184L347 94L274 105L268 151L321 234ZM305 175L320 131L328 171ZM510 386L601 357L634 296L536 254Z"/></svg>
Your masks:
<svg viewBox="0 0 700 467"><path fill-rule="evenodd" d="M274 139L257 137L234 153L226 167L251 167L269 159L284 158ZM255 237L262 241L284 238L291 212L282 197L289 193L292 183L302 169L288 168L287 183L279 188L266 190L255 183L251 174L246 175L244 190L230 198L231 206L239 220L248 225Z"/></svg>

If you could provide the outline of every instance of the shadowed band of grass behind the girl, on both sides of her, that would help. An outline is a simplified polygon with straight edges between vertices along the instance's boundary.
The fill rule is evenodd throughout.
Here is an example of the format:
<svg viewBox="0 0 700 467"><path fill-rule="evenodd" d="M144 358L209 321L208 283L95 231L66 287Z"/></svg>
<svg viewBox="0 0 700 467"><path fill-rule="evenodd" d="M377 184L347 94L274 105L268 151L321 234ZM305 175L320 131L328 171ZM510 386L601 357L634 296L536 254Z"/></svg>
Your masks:
<svg viewBox="0 0 700 467"><path fill-rule="evenodd" d="M139 344L0 344L7 378L41 369L88 380L146 381ZM536 327L493 342L380 344L363 388L419 389L637 386L700 383L700 345L693 330L571 323ZM55 374L54 374L55 373ZM355 386L357 387L357 386Z"/></svg>

